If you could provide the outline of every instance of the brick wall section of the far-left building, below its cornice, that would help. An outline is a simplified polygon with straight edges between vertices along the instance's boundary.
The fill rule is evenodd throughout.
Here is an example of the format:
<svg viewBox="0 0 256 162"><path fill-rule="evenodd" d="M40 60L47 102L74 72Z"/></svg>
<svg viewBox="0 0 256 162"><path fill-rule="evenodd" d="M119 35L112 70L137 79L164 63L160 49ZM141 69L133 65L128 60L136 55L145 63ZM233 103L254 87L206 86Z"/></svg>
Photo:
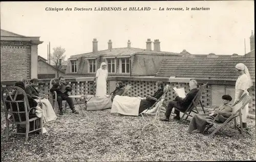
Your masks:
<svg viewBox="0 0 256 162"><path fill-rule="evenodd" d="M31 45L1 41L1 81L31 78Z"/></svg>

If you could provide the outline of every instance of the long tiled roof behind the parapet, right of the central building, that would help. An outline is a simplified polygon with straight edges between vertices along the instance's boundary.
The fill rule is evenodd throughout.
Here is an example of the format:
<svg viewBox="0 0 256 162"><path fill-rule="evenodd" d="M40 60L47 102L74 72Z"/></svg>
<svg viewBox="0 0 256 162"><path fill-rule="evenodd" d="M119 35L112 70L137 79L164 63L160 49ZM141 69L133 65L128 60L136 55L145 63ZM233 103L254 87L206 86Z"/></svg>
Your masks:
<svg viewBox="0 0 256 162"><path fill-rule="evenodd" d="M166 59L160 66L157 77L237 80L235 71L237 63L244 63L251 79L255 81L255 58L174 58Z"/></svg>

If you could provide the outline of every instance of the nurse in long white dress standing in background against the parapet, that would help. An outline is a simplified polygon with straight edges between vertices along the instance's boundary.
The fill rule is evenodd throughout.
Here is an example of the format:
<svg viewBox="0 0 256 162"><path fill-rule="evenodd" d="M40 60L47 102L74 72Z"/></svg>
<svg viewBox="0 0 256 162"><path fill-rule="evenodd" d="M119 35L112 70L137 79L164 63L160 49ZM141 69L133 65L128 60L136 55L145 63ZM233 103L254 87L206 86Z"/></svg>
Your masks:
<svg viewBox="0 0 256 162"><path fill-rule="evenodd" d="M106 95L107 78L108 71L106 70L106 63L102 62L96 73L96 97L104 97Z"/></svg>

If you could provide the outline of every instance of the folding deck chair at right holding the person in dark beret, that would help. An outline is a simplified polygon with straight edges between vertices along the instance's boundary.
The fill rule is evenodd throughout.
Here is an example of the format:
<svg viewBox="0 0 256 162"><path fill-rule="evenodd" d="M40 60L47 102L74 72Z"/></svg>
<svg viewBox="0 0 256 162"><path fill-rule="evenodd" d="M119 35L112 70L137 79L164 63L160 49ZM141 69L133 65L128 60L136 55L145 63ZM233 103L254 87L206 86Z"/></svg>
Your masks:
<svg viewBox="0 0 256 162"><path fill-rule="evenodd" d="M250 135L250 133L248 131L245 131L244 128L243 128L242 113L241 113L241 110L245 107L245 105L247 105L250 102L251 99L252 99L252 97L250 97L247 94L244 94L241 97L240 102L239 102L241 104L241 107L236 112L227 112L226 114L231 114L231 116L224 123L217 123L216 122L216 119L220 115L218 113L216 115L215 119L212 122L209 121L209 125L208 125L208 127L206 127L205 132L207 132L212 126L215 125L215 126L217 126L217 129L215 129L209 135L210 137L212 137L215 133L217 133L221 128L226 128L226 129L231 130L231 131L240 132L243 136L246 135L246 136L252 137ZM239 106L239 103L237 104L237 106ZM238 117L238 116L240 118L240 126L241 126L241 128L237 127L236 117ZM228 125L230 125L229 122L232 121L232 120L234 121L234 129L227 127ZM245 134L245 132L248 133L248 134Z"/></svg>

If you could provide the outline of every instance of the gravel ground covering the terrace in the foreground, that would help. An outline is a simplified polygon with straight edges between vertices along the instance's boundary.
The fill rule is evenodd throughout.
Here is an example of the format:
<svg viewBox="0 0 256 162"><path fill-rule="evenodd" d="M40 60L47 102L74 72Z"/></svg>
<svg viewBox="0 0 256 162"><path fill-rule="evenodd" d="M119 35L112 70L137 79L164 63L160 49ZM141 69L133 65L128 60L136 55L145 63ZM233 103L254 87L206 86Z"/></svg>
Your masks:
<svg viewBox="0 0 256 162"><path fill-rule="evenodd" d="M253 138L226 129L211 138L197 131L187 133L188 122L164 122L159 133L152 126L142 131L141 117L110 114L110 109L84 112L84 117L70 112L57 115L56 121L45 124L48 133L31 134L28 142L23 135L5 141L2 113L2 161L256 160L252 119L248 127Z"/></svg>

